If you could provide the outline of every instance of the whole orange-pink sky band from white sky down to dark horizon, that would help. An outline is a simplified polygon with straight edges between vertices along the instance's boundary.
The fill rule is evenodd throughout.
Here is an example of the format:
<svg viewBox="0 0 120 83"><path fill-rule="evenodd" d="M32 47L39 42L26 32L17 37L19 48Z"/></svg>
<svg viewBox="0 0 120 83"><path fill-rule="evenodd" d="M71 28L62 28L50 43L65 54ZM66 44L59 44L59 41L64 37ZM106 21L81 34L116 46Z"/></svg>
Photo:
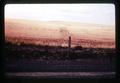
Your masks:
<svg viewBox="0 0 120 83"><path fill-rule="evenodd" d="M68 36L72 45L83 47L115 48L115 26L66 22L5 19L5 39L42 45L67 46ZM17 38L17 39L15 39Z"/></svg>

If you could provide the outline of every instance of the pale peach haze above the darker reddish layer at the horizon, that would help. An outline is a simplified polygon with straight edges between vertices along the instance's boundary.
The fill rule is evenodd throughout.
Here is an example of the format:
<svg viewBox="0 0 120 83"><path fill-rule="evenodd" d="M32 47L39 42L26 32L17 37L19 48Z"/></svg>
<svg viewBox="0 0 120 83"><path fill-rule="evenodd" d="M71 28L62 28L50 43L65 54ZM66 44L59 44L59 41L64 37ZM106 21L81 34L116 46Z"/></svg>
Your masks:
<svg viewBox="0 0 120 83"><path fill-rule="evenodd" d="M71 36L73 42L76 40L90 40L102 42L101 46L103 47L115 47L115 27L112 25L85 24L70 21L5 19L5 36L61 40L67 40L68 36Z"/></svg>

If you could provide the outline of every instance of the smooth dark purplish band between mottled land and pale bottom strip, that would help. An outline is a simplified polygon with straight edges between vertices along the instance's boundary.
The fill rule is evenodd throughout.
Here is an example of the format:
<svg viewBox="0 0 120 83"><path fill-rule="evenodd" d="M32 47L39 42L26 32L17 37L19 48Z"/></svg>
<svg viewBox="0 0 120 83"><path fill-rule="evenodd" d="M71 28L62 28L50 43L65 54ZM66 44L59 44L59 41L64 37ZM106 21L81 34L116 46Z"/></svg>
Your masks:
<svg viewBox="0 0 120 83"><path fill-rule="evenodd" d="M5 64L7 72L108 72L115 71L115 60L12 60Z"/></svg>

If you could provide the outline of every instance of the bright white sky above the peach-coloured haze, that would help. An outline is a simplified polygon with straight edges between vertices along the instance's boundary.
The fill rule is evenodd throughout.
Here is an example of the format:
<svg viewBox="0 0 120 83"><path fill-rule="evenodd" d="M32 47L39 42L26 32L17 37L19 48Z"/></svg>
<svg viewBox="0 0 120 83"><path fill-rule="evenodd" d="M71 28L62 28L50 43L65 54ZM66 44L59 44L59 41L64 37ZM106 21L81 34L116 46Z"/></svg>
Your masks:
<svg viewBox="0 0 120 83"><path fill-rule="evenodd" d="M115 25L113 4L7 4L5 18Z"/></svg>

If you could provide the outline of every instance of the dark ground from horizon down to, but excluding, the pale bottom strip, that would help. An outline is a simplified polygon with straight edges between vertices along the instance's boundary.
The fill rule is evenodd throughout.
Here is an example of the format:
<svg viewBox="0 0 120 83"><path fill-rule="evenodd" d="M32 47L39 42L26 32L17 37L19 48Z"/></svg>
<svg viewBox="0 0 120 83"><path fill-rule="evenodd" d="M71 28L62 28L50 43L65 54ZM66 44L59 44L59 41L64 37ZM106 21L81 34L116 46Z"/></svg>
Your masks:
<svg viewBox="0 0 120 83"><path fill-rule="evenodd" d="M15 45L5 47L7 72L114 72L115 50ZM66 57L67 56L67 57Z"/></svg>

